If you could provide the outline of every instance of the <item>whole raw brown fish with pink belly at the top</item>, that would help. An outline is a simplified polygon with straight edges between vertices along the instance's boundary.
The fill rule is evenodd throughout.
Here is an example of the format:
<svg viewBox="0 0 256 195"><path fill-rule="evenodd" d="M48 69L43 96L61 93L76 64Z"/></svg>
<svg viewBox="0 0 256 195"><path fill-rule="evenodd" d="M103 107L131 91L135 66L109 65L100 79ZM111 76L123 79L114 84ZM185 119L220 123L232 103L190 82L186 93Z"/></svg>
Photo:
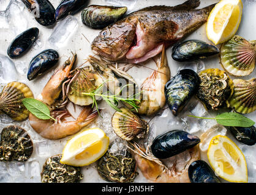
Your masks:
<svg viewBox="0 0 256 195"><path fill-rule="evenodd" d="M116 61L126 57L131 63L143 62L170 46L208 19L214 5L195 9L199 0L175 7L146 7L105 27L91 44L94 53Z"/></svg>

